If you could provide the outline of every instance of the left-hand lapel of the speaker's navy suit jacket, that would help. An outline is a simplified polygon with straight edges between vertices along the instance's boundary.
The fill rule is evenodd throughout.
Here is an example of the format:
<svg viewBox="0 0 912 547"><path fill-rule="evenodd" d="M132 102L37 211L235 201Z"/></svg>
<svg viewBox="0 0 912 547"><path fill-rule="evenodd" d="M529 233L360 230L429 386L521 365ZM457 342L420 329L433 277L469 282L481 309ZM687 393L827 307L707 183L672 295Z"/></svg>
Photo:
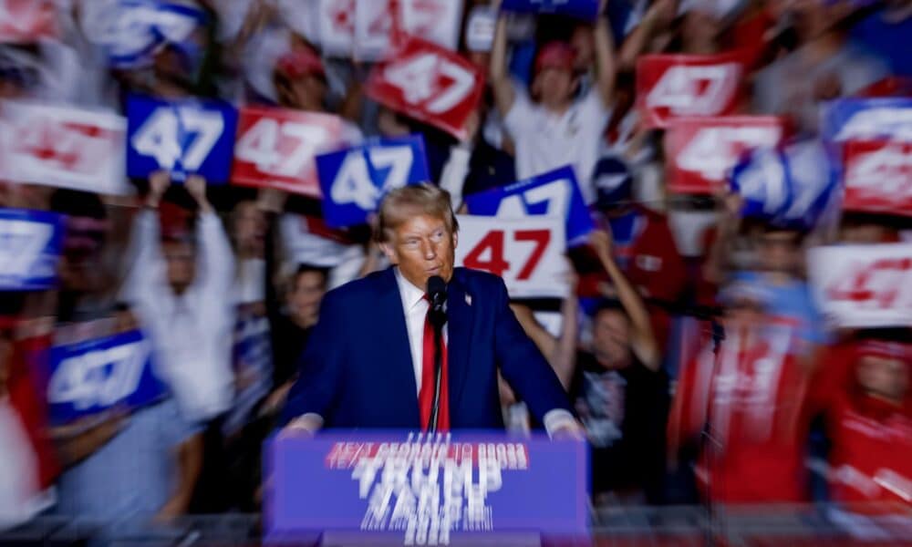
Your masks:
<svg viewBox="0 0 912 547"><path fill-rule="evenodd" d="M415 383L415 369L411 362L409 331L406 329L402 297L399 295L399 285L396 284L396 274L392 268L383 273L380 282L378 311L382 312L377 315L378 321L375 325L385 351L378 355L378 359L388 364L392 385L403 387L402 404L413 407L414 421L419 424L418 385ZM405 397L406 394L409 397Z"/></svg>

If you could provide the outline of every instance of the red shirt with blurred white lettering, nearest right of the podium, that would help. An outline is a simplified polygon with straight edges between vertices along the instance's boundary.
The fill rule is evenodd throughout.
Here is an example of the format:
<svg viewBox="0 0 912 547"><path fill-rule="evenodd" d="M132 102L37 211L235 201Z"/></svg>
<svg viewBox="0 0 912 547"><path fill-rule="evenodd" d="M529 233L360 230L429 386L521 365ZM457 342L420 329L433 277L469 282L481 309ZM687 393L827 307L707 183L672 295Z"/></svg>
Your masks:
<svg viewBox="0 0 912 547"><path fill-rule="evenodd" d="M669 446L700 439L696 474L721 503L806 501L803 447L807 378L793 330L772 326L750 337L726 334L681 372L668 420Z"/></svg>

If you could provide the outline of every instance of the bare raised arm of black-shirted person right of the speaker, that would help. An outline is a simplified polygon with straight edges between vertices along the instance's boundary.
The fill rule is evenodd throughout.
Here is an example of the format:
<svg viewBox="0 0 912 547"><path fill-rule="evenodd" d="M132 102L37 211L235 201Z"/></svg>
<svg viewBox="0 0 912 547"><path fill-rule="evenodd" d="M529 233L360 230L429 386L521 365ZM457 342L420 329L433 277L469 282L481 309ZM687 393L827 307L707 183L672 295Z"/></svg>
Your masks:
<svg viewBox="0 0 912 547"><path fill-rule="evenodd" d="M627 280L627 277L621 272L620 267L615 262L611 254L612 239L608 232L596 230L592 232L590 241L593 248L598 254L598 260L602 263L611 283L617 291L617 299L624 306L624 311L630 318L630 325L633 326L633 340L631 346L637 358L650 370L657 371L660 365L660 355L656 336L652 332L652 324L649 322L649 313L646 304L637 294L637 289Z"/></svg>

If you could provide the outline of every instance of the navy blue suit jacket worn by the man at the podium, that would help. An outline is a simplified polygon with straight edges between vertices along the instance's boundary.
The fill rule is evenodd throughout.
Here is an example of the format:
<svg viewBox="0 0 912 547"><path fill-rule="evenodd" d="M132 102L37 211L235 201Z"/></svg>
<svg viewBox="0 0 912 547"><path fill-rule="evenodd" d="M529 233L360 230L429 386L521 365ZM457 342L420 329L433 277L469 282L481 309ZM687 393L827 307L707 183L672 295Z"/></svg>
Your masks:
<svg viewBox="0 0 912 547"><path fill-rule="evenodd" d="M456 268L447 293L451 428L503 428L498 366L535 418L570 410L500 277ZM408 336L392 268L327 293L283 421L313 412L325 428L419 429Z"/></svg>

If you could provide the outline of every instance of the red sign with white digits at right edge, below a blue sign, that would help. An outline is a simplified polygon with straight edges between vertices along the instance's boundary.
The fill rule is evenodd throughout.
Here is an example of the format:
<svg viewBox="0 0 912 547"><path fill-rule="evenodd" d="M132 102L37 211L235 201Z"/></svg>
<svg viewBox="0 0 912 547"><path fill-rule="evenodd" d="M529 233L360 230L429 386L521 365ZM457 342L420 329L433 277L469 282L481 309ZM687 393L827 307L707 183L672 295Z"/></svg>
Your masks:
<svg viewBox="0 0 912 547"><path fill-rule="evenodd" d="M912 141L849 140L843 209L912 216Z"/></svg>

